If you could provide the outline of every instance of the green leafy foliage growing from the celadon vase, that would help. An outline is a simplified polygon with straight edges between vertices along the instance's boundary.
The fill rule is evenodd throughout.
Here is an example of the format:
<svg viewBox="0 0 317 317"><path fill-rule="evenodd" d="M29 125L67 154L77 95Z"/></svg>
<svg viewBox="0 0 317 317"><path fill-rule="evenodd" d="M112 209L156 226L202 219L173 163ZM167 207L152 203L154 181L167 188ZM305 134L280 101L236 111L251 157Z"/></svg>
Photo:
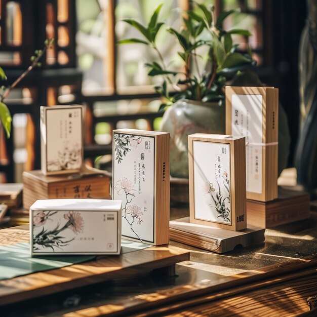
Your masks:
<svg viewBox="0 0 317 317"><path fill-rule="evenodd" d="M222 88L225 82L239 70L255 65L251 55L237 52L238 45L233 45L232 42L232 34L248 37L251 33L244 29L223 29L224 19L235 10L224 11L215 19L214 6L207 7L196 2L191 2L191 5L192 9L184 12L182 30L167 28L180 44L182 51L178 52L178 55L184 64L183 71L170 69L156 45L157 32L164 25L164 22L158 22L162 4L155 9L147 26L135 19L123 20L137 29L145 39L128 38L118 41L117 44L143 44L152 47L157 53L159 61L147 63L146 66L149 68L149 76L164 77L162 85L155 87L156 92L166 98L160 109L182 98L221 103L224 99ZM200 71L197 59L201 56L197 51L202 47L207 47L209 54L206 66ZM176 91L175 94L169 93L170 87Z"/></svg>

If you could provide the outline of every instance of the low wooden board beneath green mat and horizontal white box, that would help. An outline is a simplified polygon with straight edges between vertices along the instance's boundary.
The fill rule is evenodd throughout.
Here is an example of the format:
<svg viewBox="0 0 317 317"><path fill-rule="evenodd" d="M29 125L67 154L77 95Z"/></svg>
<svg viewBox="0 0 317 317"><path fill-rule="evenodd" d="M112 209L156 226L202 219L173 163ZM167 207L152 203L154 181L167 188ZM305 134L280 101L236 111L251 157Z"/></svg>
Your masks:
<svg viewBox="0 0 317 317"><path fill-rule="evenodd" d="M1 244L28 241L27 228L7 228ZM98 257L94 261L74 264L45 272L0 281L0 306L34 297L58 293L107 280L127 278L144 271L170 267L189 260L189 251L164 245L149 247L122 255Z"/></svg>

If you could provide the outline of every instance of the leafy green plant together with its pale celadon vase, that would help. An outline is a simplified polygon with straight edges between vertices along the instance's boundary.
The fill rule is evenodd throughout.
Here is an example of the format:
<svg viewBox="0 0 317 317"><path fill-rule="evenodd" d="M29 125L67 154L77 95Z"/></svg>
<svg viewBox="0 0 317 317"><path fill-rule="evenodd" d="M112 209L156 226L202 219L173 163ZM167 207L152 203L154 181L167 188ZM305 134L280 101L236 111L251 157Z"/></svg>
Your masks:
<svg viewBox="0 0 317 317"><path fill-rule="evenodd" d="M224 11L215 19L214 6L191 4L192 9L183 12L182 29L167 28L180 47L178 55L183 62L182 69L167 66L156 45L157 32L164 25L158 19L162 4L154 10L146 26L135 19L123 20L137 29L143 38L128 38L117 43L147 45L157 53L157 61L146 66L149 76L163 77L162 84L154 88L164 97L160 111L166 111L161 129L171 134L171 175L174 177L188 177L189 134L225 132L224 86L228 80L232 80L236 86L241 86L239 82L244 82L245 86L258 86L260 83L253 73L251 79L256 78L257 83L253 81L252 85L251 80L251 84L246 84L246 77L250 77L247 70L254 67L256 62L251 52L239 52L239 46L232 41L233 34L248 37L251 33L244 29L223 29L223 21L235 10ZM208 59L200 69L199 51L204 48L208 50ZM287 155L288 151L284 152Z"/></svg>

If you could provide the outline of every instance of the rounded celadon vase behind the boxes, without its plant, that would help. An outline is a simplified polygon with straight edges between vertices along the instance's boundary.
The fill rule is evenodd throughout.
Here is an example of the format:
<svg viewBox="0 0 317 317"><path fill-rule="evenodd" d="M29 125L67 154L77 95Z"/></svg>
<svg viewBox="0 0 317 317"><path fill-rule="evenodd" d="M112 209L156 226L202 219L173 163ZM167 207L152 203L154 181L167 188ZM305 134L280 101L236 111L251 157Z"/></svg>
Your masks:
<svg viewBox="0 0 317 317"><path fill-rule="evenodd" d="M193 133L225 133L225 106L178 100L164 113L161 131L171 137L171 176L188 178L188 141Z"/></svg>

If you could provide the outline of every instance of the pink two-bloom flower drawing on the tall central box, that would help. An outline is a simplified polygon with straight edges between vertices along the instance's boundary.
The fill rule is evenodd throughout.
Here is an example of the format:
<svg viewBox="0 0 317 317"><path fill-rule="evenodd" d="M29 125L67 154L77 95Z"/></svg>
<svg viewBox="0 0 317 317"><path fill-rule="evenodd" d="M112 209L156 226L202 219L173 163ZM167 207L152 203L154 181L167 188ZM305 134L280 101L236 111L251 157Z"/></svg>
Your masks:
<svg viewBox="0 0 317 317"><path fill-rule="evenodd" d="M133 197L135 197L134 192L136 191L133 187L132 181L124 177L123 179L117 180L115 183L114 189L116 190L118 195L125 194L126 195L126 203L125 207L122 209L123 218L129 223L131 230L138 237L138 239L142 242L142 239L132 228L132 225L136 222L137 224L141 224L143 222L142 215L143 212L141 208L135 204L131 204Z"/></svg>

